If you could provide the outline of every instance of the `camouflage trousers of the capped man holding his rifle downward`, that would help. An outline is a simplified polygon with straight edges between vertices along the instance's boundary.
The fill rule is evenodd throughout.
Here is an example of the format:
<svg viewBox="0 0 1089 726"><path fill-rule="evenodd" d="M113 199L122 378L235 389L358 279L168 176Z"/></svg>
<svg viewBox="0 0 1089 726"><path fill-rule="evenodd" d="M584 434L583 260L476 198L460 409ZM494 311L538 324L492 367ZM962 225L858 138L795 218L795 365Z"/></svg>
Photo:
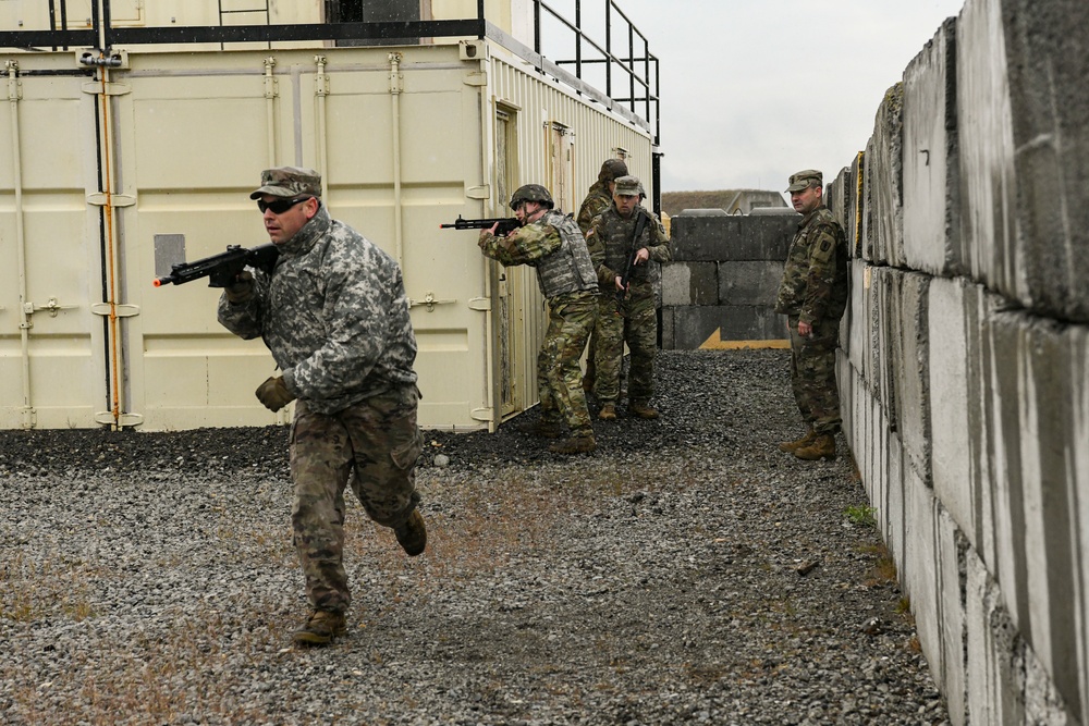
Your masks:
<svg viewBox="0 0 1089 726"><path fill-rule="evenodd" d="M658 352L658 310L649 282L632 283L624 302L614 293L598 297L598 343L594 392L602 404L620 398L624 344L632 352L627 372L629 403L646 404L654 395L654 355Z"/></svg>

